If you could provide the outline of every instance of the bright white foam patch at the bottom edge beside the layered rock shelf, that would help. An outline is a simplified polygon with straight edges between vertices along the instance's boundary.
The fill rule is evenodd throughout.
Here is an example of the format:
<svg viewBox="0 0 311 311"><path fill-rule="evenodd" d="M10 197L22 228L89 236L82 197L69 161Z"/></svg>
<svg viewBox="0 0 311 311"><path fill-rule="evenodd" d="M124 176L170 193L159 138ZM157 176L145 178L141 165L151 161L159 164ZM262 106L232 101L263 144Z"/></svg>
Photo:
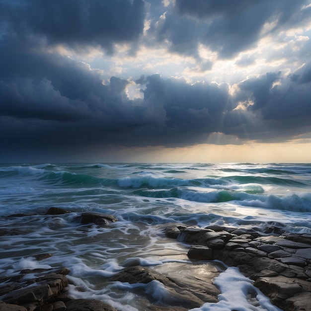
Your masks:
<svg viewBox="0 0 311 311"><path fill-rule="evenodd" d="M282 311L273 306L256 287L253 281L244 277L238 268L230 267L214 280L220 289L218 303L206 303L191 311ZM252 297L252 298L249 298Z"/></svg>

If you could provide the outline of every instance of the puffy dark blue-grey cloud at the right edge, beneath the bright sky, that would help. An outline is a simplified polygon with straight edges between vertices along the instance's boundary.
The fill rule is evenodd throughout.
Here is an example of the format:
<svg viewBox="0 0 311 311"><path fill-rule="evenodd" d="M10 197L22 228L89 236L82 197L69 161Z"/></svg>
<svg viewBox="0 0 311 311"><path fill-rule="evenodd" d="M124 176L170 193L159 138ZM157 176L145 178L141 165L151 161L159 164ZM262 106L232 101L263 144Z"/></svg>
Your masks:
<svg viewBox="0 0 311 311"><path fill-rule="evenodd" d="M280 121L275 128L294 129L311 124L310 64L295 75L281 78L281 73L268 73L239 83L241 101L252 100L248 110L257 112L263 121ZM278 82L278 83L275 83ZM245 92L246 91L246 92Z"/></svg>

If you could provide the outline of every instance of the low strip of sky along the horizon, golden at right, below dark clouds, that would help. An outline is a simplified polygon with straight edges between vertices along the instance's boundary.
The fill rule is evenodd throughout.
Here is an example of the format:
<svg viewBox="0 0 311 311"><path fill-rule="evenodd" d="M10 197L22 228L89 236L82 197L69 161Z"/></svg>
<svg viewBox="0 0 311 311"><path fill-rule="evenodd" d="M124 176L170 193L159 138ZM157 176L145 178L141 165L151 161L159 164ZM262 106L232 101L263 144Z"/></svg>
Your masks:
<svg viewBox="0 0 311 311"><path fill-rule="evenodd" d="M25 152L2 163L311 163L311 142L200 144L187 147L99 147L89 151L41 154ZM76 156L72 156L75 154Z"/></svg>

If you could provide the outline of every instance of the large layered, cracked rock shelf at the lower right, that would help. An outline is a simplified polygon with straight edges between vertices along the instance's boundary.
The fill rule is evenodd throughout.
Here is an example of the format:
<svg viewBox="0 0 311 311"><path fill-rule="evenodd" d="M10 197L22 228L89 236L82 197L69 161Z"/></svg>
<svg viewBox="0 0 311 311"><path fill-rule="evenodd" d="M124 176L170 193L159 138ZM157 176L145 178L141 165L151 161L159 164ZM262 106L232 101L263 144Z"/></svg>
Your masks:
<svg viewBox="0 0 311 311"><path fill-rule="evenodd" d="M188 257L221 260L253 279L284 311L311 310L311 235L210 226L164 228L168 237L191 244Z"/></svg>

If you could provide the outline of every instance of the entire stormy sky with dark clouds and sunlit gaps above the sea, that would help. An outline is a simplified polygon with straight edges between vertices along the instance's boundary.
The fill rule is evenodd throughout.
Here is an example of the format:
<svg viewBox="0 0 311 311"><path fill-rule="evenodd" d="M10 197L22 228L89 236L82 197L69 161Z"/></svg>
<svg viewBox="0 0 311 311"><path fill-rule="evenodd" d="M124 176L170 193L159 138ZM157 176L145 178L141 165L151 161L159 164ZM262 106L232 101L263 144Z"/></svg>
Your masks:
<svg viewBox="0 0 311 311"><path fill-rule="evenodd" d="M0 0L0 162L311 162L311 0Z"/></svg>

